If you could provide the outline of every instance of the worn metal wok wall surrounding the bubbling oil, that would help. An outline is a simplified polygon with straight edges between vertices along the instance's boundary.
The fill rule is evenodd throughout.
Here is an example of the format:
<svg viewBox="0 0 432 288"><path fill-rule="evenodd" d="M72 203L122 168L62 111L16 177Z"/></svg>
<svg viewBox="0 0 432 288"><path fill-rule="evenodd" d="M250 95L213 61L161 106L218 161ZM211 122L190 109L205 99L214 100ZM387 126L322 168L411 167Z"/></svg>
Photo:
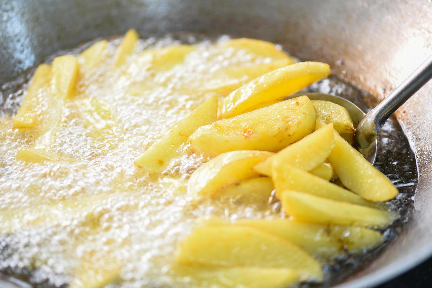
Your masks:
<svg viewBox="0 0 432 288"><path fill-rule="evenodd" d="M0 85L58 50L137 28L143 38L191 31L277 42L301 59L329 63L374 95L374 105L431 53L431 12L426 0L3 0ZM418 163L413 215L371 265L338 287L377 285L432 254L430 94L432 83L396 113Z"/></svg>

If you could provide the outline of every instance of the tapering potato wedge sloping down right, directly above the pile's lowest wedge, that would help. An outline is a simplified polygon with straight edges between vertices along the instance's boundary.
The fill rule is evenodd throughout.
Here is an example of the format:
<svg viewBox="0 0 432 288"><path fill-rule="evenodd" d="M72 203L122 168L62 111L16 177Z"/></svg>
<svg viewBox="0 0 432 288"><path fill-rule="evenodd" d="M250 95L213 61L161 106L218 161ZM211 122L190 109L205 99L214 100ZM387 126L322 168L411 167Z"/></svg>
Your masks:
<svg viewBox="0 0 432 288"><path fill-rule="evenodd" d="M283 191L293 190L352 204L373 205L351 191L292 165L276 161L272 167L273 183L279 199Z"/></svg>

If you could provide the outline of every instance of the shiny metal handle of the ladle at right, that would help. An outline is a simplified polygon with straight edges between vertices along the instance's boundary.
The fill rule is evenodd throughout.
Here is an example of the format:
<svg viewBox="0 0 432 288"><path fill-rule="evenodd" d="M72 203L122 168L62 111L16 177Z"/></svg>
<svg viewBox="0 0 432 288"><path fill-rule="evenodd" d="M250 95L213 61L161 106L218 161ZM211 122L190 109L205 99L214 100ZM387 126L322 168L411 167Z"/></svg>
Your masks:
<svg viewBox="0 0 432 288"><path fill-rule="evenodd" d="M403 103L432 78L432 55L426 59L388 97L369 111L357 126L356 138L361 148L367 147L381 130L385 121Z"/></svg>

